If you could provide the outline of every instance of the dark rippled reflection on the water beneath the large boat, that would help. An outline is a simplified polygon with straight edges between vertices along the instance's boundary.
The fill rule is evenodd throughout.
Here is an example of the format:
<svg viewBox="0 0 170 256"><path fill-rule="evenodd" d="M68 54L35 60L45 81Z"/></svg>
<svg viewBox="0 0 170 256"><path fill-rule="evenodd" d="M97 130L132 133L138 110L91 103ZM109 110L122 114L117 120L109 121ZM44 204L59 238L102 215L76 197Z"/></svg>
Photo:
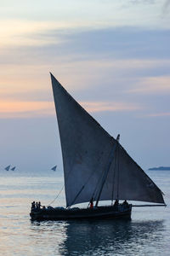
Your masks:
<svg viewBox="0 0 170 256"><path fill-rule="evenodd" d="M56 255L144 255L150 244L154 255L164 225L163 221L105 220L32 223L32 228L60 236L54 241Z"/></svg>

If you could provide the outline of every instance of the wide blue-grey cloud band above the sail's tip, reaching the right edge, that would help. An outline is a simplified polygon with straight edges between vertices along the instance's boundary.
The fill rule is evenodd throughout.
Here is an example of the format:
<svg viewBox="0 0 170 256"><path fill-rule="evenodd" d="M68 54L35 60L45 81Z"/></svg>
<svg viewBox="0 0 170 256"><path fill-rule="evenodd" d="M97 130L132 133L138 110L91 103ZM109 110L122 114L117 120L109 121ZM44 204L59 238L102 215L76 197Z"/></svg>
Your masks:
<svg viewBox="0 0 170 256"><path fill-rule="evenodd" d="M58 38L58 31L49 31L51 38ZM114 58L144 59L170 57L167 37L169 30L150 30L139 27L110 27L60 34L64 44L44 48L50 55L74 55L83 59ZM54 40L54 39L53 39Z"/></svg>

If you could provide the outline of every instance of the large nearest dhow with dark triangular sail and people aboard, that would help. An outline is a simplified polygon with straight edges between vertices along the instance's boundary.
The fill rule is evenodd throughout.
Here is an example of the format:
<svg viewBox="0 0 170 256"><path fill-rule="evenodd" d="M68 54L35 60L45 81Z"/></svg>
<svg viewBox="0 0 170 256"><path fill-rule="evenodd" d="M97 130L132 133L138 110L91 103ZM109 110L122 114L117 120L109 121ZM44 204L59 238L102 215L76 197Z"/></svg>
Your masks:
<svg viewBox="0 0 170 256"><path fill-rule="evenodd" d="M161 189L127 154L120 135L116 139L111 137L53 74L51 80L63 157L66 207L42 207L34 201L31 219L129 219L133 205L127 201L165 206ZM111 204L99 205L101 201ZM75 207L82 203L88 203L88 207Z"/></svg>

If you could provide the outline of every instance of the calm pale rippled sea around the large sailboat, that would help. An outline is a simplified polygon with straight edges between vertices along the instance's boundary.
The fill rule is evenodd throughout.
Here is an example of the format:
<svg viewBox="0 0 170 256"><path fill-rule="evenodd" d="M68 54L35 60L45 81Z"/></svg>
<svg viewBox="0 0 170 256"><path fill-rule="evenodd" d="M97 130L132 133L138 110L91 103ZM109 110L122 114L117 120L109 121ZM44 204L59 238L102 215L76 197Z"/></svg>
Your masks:
<svg viewBox="0 0 170 256"><path fill-rule="evenodd" d="M170 172L147 174L165 194L167 207L133 207L126 221L32 222L31 201L65 206L62 174L1 171L0 255L169 256Z"/></svg>

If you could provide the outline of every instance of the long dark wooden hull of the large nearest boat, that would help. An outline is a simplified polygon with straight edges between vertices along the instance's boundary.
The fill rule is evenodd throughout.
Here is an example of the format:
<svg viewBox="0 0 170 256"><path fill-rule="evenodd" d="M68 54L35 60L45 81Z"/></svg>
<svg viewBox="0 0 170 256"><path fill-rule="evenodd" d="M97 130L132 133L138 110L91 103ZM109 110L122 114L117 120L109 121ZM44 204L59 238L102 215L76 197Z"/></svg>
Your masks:
<svg viewBox="0 0 170 256"><path fill-rule="evenodd" d="M31 209L31 220L67 220L67 219L105 219L105 218L131 218L132 205L118 205L94 208L48 207L44 209Z"/></svg>

